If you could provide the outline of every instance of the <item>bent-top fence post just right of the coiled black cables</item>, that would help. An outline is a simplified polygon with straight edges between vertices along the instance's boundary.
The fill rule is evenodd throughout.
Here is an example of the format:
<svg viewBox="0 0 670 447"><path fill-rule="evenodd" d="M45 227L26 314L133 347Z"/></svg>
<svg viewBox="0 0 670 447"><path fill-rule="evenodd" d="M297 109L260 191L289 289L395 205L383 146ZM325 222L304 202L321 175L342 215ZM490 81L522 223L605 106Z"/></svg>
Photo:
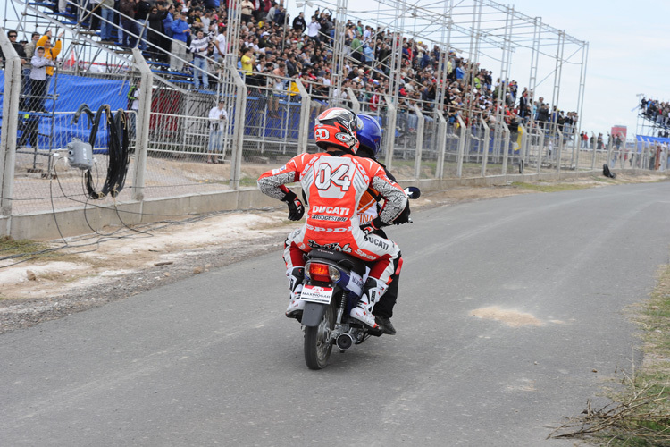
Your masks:
<svg viewBox="0 0 670 447"><path fill-rule="evenodd" d="M140 73L138 131L135 140L135 173L132 181L133 200L144 199L144 175L147 171L147 153L149 151L149 124L151 120L151 100L154 93L154 73L151 72L142 52L132 49L135 64Z"/></svg>

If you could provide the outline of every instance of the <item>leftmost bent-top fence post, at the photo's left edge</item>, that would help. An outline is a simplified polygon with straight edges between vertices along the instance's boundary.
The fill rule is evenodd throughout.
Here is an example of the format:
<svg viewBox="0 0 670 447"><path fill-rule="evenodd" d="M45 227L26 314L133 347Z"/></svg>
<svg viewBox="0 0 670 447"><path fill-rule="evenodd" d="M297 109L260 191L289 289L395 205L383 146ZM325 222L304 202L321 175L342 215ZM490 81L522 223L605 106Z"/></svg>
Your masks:
<svg viewBox="0 0 670 447"><path fill-rule="evenodd" d="M12 215L14 164L16 163L16 134L19 126L19 101L21 96L21 58L9 42L7 34L0 32L0 47L4 53L3 127L0 137L0 217ZM9 234L10 221L0 230Z"/></svg>

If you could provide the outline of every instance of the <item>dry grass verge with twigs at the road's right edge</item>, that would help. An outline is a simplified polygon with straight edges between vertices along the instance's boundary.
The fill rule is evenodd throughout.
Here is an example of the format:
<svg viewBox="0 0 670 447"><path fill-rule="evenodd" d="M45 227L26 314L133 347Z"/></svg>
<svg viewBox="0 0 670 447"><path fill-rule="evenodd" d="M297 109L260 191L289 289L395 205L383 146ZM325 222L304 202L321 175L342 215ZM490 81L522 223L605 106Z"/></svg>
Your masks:
<svg viewBox="0 0 670 447"><path fill-rule="evenodd" d="M598 445L670 446L670 266L663 266L651 298L635 317L645 361L624 376L624 391L604 409L587 409L551 434Z"/></svg>

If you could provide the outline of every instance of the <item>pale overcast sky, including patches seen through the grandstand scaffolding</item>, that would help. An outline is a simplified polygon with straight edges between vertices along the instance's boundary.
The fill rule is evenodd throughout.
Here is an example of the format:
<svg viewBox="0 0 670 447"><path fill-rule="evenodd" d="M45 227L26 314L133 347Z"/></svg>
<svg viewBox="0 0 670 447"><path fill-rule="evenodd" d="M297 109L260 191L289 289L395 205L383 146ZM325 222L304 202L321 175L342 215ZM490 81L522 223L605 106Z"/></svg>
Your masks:
<svg viewBox="0 0 670 447"><path fill-rule="evenodd" d="M318 0L314 3L319 4ZM531 17L541 17L543 23L589 42L582 130L605 134L613 125L625 125L628 137L632 138L637 123L632 108L639 104L636 95L644 93L662 101L670 99L667 87L670 39L665 36L670 20L670 0L501 0L498 3L514 6L515 11ZM435 2L419 0L418 4ZM349 9L359 11L367 5L373 15L378 9L374 0L349 0L348 5ZM301 10L295 6L294 0L289 1L291 20ZM314 8L307 6L306 17L313 11ZM406 19L405 26L411 30L412 19ZM567 58L568 46L565 48L564 57ZM575 48L573 46L572 50ZM557 48L546 48L546 51L554 54ZM567 111L577 110L582 54L573 55L570 62L564 65L559 96L559 107ZM481 63L494 75L500 72L499 62L481 56ZM510 77L522 88L529 83L530 66L530 55L523 51L512 56ZM537 92L546 102L551 101L554 90L554 69L554 61L540 59Z"/></svg>

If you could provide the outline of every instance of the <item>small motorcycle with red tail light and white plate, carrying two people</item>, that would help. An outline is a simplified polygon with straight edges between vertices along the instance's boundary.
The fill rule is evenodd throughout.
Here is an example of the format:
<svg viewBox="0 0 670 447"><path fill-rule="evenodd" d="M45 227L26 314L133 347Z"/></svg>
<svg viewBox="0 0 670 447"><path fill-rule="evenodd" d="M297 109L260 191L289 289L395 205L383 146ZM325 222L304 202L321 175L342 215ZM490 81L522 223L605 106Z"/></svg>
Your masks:
<svg viewBox="0 0 670 447"><path fill-rule="evenodd" d="M415 187L405 192L407 198L421 195ZM349 316L363 293L363 260L328 249L313 249L306 259L300 295L306 304L299 321L305 330L305 362L310 369L318 370L328 364L333 346L344 353L369 337L381 336L383 329L373 329Z"/></svg>

